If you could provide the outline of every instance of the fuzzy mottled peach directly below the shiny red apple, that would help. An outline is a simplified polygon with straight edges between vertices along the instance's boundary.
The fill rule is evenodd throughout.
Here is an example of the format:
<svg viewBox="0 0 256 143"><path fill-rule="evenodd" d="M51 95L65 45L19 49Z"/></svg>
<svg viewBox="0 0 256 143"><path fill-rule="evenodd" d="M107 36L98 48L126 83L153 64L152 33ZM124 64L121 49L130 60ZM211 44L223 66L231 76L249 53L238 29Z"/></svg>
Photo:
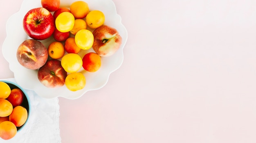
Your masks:
<svg viewBox="0 0 256 143"><path fill-rule="evenodd" d="M39 69L48 59L47 48L35 39L23 41L19 45L16 55L20 65L27 69Z"/></svg>

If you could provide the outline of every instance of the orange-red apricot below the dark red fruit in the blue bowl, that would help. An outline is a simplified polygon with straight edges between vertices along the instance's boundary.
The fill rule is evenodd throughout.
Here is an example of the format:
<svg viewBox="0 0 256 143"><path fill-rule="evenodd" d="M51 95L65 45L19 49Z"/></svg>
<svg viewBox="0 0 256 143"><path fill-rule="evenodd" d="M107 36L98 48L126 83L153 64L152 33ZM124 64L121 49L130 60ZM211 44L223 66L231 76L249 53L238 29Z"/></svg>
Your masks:
<svg viewBox="0 0 256 143"><path fill-rule="evenodd" d="M16 106L13 108L9 121L13 122L16 127L20 127L27 121L27 109L23 106Z"/></svg>

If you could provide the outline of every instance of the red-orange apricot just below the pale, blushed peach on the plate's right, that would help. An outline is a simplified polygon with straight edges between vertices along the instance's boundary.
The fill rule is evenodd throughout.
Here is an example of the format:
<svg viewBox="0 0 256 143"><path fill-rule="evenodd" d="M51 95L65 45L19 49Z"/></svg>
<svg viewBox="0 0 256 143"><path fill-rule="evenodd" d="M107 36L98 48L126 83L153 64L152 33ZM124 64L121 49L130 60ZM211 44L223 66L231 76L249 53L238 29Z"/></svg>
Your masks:
<svg viewBox="0 0 256 143"><path fill-rule="evenodd" d="M96 72L101 67L101 57L94 52L85 54L82 60L83 69L88 72Z"/></svg>

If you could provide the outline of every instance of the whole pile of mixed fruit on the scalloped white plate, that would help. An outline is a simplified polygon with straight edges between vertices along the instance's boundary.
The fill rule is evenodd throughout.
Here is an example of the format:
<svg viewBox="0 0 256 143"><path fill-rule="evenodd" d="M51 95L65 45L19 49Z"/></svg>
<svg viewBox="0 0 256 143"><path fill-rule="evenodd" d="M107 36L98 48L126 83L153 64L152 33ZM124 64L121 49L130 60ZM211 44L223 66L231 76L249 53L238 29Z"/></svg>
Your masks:
<svg viewBox="0 0 256 143"><path fill-rule="evenodd" d="M101 57L113 55L120 47L119 32L104 25L100 10L90 11L85 1L61 7L60 0L41 0L42 7L29 10L23 28L31 39L17 49L20 65L38 70L38 80L46 87L66 85L70 91L85 87L86 79L79 70L97 72ZM54 39L46 47L41 40ZM82 50L93 49L94 52Z"/></svg>

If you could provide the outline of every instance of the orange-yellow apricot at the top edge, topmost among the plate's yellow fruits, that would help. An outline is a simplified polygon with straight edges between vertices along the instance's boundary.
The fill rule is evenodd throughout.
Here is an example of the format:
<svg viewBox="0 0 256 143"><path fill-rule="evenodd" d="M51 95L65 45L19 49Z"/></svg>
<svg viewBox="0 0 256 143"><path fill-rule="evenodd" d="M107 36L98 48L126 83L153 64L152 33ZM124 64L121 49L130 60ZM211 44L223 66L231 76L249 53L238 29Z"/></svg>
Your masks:
<svg viewBox="0 0 256 143"><path fill-rule="evenodd" d="M70 5L70 11L77 18L84 18L89 13L89 6L86 2L78 0Z"/></svg>

